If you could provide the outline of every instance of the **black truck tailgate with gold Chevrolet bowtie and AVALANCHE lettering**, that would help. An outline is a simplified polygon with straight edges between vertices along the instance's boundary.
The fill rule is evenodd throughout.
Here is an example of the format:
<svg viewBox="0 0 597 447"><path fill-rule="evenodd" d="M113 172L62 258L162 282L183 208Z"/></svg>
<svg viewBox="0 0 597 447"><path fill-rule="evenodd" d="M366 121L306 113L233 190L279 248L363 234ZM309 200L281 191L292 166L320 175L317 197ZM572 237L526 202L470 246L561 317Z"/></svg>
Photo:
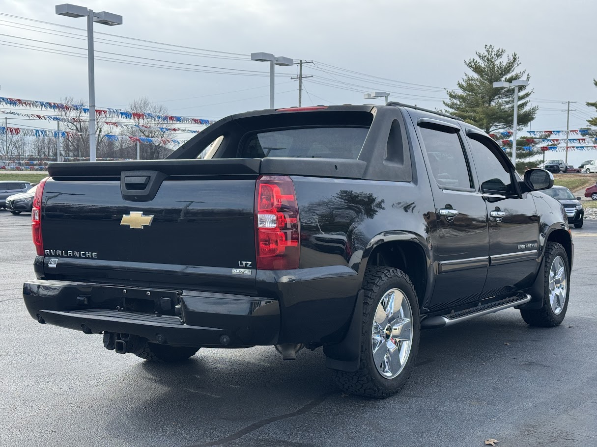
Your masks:
<svg viewBox="0 0 597 447"><path fill-rule="evenodd" d="M147 170L143 162L119 163L121 167L102 163L97 169L103 172L82 176L95 167L57 166L54 173L59 175L46 182L43 195L44 272L93 278L97 265L104 278L197 285L202 283L198 278L210 275L211 281L214 275L230 278L239 263L254 266L253 209L259 164L257 172L239 169L234 174L226 166L234 160L214 160L219 162L215 168L210 160L199 160L211 166L206 175L201 163L184 161L199 168L170 175L167 167ZM163 167L159 162L153 165ZM181 171L180 166L176 171ZM126 177L143 180L140 174L146 173L153 178L150 182L159 183L154 185L155 197L140 200L143 197L137 197L134 188L121 187ZM48 265L48 257L57 258L54 265ZM248 269L242 276L254 281Z"/></svg>

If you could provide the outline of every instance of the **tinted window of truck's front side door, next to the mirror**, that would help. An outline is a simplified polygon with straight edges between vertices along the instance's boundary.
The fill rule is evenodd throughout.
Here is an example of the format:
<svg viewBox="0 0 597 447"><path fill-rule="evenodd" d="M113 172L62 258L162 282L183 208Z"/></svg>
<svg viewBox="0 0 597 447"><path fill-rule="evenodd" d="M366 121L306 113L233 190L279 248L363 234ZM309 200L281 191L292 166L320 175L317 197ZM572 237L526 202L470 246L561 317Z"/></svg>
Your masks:
<svg viewBox="0 0 597 447"><path fill-rule="evenodd" d="M477 176L479 177L479 184L481 185L481 192L516 194L510 167L503 157L496 154L496 151L501 149L494 147L491 141L485 142L482 136L479 136L479 139L480 141L469 138L469 143Z"/></svg>

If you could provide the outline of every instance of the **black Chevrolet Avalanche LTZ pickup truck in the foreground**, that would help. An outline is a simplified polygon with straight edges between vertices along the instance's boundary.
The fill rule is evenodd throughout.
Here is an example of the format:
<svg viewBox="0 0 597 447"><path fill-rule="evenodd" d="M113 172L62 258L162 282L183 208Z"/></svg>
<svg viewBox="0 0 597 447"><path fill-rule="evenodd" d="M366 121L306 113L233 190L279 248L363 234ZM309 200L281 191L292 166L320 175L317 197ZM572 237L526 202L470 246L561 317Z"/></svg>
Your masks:
<svg viewBox="0 0 597 447"><path fill-rule="evenodd" d="M201 347L322 347L385 398L420 331L507 308L553 327L573 241L552 175L484 132L400 103L241 113L165 160L51 163L33 203L42 324L174 362ZM300 357L300 356L299 356Z"/></svg>

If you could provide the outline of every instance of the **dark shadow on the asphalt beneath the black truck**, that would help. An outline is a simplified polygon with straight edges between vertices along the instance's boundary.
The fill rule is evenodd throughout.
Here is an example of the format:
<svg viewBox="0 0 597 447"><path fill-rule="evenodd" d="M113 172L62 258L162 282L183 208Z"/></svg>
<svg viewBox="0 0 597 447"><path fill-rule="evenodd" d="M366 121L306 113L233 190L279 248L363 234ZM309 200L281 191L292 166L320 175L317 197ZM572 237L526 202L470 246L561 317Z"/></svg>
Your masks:
<svg viewBox="0 0 597 447"><path fill-rule="evenodd" d="M324 431L334 427L334 436L338 430L351 433L355 445L360 445L356 443L360 435L352 427L371 412L389 418L414 415L427 412L430 401L438 415L434 432L449 433L455 424L470 423L471 408L475 419L483 421L481 426L499 420L512 429L519 424L521 411L541 412L543 403L558 398L549 390L558 389L562 377L590 367L578 365L571 353L573 330L568 325L530 328L518 312L504 311L425 331L413 375L401 393L383 401L343 395L325 368L321 349L303 350L291 362L282 362L273 347L201 349L176 365L140 362L120 386L122 395L134 394L134 399L119 403L106 431L119 433L113 428L126 422L131 428L143 427L152 445L227 445L272 423L294 427L296 417L302 415L303 424L304 418L325 417ZM513 383L524 384L525 396L532 398L520 399L519 388L510 386ZM501 406L506 404L508 411ZM414 421L393 427L396 439L414 436L415 431L420 436L421 426ZM378 435L363 434L368 443L376 443L376 436L383 440L385 429L378 428ZM312 445L308 430L300 436L306 437L302 440L306 443L295 443L301 439L294 438L292 443L270 441L272 445ZM450 435L445 436L450 445Z"/></svg>

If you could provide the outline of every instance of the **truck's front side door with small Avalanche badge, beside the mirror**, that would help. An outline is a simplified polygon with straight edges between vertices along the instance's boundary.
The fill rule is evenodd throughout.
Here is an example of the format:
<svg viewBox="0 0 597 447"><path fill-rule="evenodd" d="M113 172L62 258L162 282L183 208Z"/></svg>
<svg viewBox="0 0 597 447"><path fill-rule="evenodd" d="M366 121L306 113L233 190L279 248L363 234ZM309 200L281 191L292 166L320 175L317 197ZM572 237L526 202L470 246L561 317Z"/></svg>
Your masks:
<svg viewBox="0 0 597 447"><path fill-rule="evenodd" d="M528 287L538 267L539 216L533 197L521 194L512 163L491 138L467 129L466 141L489 215L490 267L484 294Z"/></svg>

